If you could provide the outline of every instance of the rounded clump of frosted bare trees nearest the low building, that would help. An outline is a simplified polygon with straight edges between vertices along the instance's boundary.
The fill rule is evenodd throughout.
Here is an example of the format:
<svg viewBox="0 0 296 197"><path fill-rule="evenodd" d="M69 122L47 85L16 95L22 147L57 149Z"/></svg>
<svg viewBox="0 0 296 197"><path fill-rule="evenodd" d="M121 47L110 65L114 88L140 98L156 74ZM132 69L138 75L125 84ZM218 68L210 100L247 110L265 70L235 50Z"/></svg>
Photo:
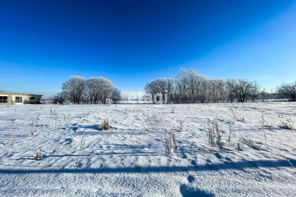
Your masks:
<svg viewBox="0 0 296 197"><path fill-rule="evenodd" d="M71 75L63 84L62 90L50 97L54 103L106 104L118 103L122 99L121 91L104 77L88 79Z"/></svg>

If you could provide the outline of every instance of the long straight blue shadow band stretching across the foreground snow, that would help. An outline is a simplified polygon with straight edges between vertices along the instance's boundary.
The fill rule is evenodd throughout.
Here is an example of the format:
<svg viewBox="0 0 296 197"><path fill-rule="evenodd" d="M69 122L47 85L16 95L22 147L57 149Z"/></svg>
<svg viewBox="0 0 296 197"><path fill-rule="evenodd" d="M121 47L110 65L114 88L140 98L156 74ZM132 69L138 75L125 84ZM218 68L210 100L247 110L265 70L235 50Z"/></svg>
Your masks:
<svg viewBox="0 0 296 197"><path fill-rule="evenodd" d="M56 155L58 156L58 155ZM68 155L60 155L68 156ZM77 155L69 155L77 156ZM80 155L82 156L82 155ZM296 165L296 159L290 160L292 165ZM3 164L4 165L4 164ZM51 167L51 166L48 166ZM160 166L160 167L102 167L102 168L63 168L63 169L0 169L1 174L36 174L36 173L168 173L168 172L189 172L189 171L217 171L217 170L243 170L244 168L282 168L291 167L286 160L253 160L253 161L226 161L223 163L204 164L191 166ZM269 170L269 169L267 169ZM239 174L240 172L232 172Z"/></svg>

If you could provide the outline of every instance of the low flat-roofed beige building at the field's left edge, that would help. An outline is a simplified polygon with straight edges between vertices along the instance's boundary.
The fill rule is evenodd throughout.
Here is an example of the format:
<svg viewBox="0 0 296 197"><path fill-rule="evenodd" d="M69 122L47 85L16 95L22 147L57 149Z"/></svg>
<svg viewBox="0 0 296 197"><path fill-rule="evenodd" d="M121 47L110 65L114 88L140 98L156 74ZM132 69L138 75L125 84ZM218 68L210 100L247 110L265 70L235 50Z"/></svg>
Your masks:
<svg viewBox="0 0 296 197"><path fill-rule="evenodd" d="M0 105L40 104L41 94L0 93Z"/></svg>

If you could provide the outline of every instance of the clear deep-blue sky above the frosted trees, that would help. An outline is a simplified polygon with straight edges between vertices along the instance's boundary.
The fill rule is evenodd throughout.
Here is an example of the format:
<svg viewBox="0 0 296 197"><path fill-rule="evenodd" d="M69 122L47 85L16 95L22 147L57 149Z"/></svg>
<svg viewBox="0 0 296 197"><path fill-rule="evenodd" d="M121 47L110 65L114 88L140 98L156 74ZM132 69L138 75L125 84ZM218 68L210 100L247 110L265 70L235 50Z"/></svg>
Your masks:
<svg viewBox="0 0 296 197"><path fill-rule="evenodd" d="M1 1L0 89L43 94L70 75L123 92L193 67L212 78L296 80L295 1Z"/></svg>

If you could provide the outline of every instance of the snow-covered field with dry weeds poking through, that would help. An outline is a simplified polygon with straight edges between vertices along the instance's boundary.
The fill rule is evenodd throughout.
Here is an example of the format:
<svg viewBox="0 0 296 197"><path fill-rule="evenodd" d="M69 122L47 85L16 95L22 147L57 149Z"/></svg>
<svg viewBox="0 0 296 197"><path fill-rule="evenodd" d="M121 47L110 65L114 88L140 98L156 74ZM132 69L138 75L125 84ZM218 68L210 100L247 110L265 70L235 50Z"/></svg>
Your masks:
<svg viewBox="0 0 296 197"><path fill-rule="evenodd" d="M296 167L296 131L280 123L287 117L296 125L296 103L174 107L175 113L156 104L0 106L0 195L102 196L105 177L104 196L296 195L296 170L279 154ZM153 114L159 121L150 123ZM100 131L105 118L112 129ZM218 144L211 153L208 119L220 124L225 153ZM170 156L164 129L179 145ZM35 161L37 143L42 158Z"/></svg>

